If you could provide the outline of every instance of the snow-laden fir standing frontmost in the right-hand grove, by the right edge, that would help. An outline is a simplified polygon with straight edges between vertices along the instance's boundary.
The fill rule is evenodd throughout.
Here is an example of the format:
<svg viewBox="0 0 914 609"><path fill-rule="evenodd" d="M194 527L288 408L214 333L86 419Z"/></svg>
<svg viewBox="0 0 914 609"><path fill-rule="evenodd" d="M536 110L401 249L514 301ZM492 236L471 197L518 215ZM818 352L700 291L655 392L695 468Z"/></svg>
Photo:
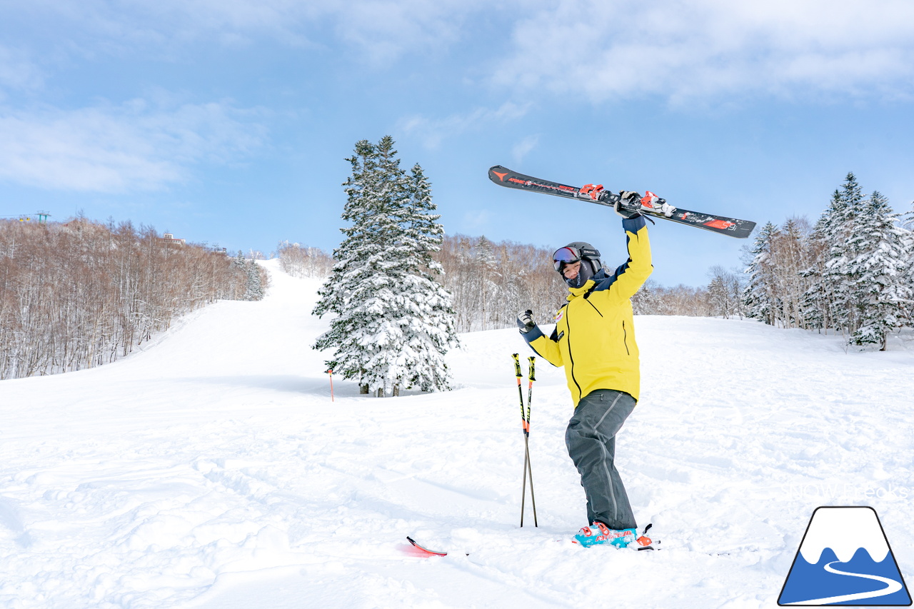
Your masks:
<svg viewBox="0 0 914 609"><path fill-rule="evenodd" d="M887 198L874 192L847 240L846 250L854 254L845 263L845 275L854 282L850 291L856 324L850 341L856 345L885 349L888 333L904 324L911 252L907 231L897 222Z"/></svg>

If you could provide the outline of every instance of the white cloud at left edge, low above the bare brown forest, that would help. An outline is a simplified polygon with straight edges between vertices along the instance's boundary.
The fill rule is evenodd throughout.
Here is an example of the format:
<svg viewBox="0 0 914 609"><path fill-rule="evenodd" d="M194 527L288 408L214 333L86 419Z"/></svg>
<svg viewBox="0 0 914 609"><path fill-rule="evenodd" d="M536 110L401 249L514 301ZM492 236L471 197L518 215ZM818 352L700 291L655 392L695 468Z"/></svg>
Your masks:
<svg viewBox="0 0 914 609"><path fill-rule="evenodd" d="M226 163L259 147L265 130L228 103L65 111L0 108L0 179L98 192L165 187L197 163Z"/></svg>

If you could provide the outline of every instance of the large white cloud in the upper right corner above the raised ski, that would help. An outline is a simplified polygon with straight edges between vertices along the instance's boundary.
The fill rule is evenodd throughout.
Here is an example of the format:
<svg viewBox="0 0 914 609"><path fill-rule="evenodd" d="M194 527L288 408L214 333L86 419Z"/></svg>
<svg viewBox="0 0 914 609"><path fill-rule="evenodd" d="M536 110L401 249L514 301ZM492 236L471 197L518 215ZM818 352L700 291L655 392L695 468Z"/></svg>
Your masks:
<svg viewBox="0 0 914 609"><path fill-rule="evenodd" d="M911 93L907 0L565 0L517 23L494 82L602 102Z"/></svg>

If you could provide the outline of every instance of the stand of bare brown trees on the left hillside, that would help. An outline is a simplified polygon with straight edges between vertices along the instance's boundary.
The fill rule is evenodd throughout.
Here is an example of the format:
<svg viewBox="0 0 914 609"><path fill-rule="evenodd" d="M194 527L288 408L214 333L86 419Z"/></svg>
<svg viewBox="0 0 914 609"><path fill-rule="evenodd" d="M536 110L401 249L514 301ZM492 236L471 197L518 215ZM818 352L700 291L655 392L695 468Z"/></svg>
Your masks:
<svg viewBox="0 0 914 609"><path fill-rule="evenodd" d="M152 227L0 221L0 379L112 362L247 281L223 253Z"/></svg>

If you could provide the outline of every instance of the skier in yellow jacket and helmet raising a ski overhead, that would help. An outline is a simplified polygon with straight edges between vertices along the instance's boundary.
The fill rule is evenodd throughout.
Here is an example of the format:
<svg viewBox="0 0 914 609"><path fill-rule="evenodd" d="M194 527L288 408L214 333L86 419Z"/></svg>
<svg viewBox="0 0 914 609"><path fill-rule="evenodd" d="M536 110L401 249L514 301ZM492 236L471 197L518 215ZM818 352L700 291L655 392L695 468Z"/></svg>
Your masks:
<svg viewBox="0 0 914 609"><path fill-rule="evenodd" d="M590 523L575 541L585 547L610 543L624 548L637 537L632 507L613 461L616 434L638 401L640 385L630 299L654 267L643 216L622 206L640 195L620 195L615 210L622 216L628 261L608 272L600 251L590 243L569 243L553 254L556 271L569 286L569 302L558 310L552 335L543 334L532 311L517 315L527 344L549 363L565 367L575 405L565 443L580 474ZM647 538L638 541L650 543Z"/></svg>

